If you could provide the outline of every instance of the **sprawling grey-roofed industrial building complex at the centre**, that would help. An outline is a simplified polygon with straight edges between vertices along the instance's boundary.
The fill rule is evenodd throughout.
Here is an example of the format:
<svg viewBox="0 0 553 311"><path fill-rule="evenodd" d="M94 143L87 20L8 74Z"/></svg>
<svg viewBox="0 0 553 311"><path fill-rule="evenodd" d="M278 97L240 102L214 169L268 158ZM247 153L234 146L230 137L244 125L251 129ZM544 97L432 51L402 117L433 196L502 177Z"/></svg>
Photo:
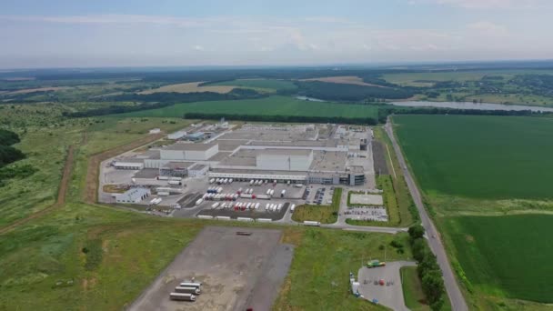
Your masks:
<svg viewBox="0 0 553 311"><path fill-rule="evenodd" d="M202 130L186 139L203 139L211 133L206 125ZM367 150L370 135L365 126L350 130L347 125L244 125L222 130L206 143L152 148L114 166L156 169L159 176L361 186L367 176L374 177Z"/></svg>

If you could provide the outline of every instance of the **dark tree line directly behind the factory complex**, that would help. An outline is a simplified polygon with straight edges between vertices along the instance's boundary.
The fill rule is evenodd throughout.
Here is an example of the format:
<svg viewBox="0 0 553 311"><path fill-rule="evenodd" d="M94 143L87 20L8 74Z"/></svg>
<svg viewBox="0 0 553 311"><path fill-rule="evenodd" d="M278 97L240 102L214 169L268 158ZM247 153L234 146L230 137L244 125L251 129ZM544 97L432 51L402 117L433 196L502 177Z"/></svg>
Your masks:
<svg viewBox="0 0 553 311"><path fill-rule="evenodd" d="M235 115L223 113L186 113L185 119L283 122L283 123L344 123L350 125L377 125L374 117L308 116L308 115Z"/></svg>

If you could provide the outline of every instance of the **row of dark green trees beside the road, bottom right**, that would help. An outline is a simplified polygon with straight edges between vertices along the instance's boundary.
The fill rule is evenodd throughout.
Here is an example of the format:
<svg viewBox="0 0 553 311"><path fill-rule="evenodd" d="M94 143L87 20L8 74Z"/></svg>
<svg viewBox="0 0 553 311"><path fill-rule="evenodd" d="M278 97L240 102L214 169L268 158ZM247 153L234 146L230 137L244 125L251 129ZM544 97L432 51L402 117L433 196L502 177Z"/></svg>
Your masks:
<svg viewBox="0 0 553 311"><path fill-rule="evenodd" d="M425 228L420 225L411 226L408 232L413 257L417 260L417 275L422 290L427 296L428 305L432 310L440 310L444 306L446 286L444 285L442 272L437 265L436 256L423 237Z"/></svg>

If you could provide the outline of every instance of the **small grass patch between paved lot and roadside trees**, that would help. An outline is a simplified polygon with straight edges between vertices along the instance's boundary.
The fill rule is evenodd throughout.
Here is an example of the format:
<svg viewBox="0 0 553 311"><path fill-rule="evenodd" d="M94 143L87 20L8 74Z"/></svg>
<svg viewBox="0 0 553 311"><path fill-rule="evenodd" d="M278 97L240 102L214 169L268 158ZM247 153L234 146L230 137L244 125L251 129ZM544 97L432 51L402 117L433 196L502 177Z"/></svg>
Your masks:
<svg viewBox="0 0 553 311"><path fill-rule="evenodd" d="M422 291L420 279L417 276L417 267L403 266L400 273L405 305L412 311L430 310L430 306L426 303L427 297Z"/></svg>

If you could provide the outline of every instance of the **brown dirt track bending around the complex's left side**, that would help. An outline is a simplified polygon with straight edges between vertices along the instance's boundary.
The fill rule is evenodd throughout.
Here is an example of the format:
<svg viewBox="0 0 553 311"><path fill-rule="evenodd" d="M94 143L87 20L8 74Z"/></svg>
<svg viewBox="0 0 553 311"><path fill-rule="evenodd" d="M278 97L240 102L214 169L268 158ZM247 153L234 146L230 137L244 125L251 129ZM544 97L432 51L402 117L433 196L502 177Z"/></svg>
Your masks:
<svg viewBox="0 0 553 311"><path fill-rule="evenodd" d="M83 200L86 203L90 203L90 204L94 204L97 201L98 175L100 173L100 163L102 163L102 161L105 161L110 157L123 154L126 151L136 149L142 145L152 143L162 138L164 135L165 134L161 134L161 133L156 135L148 135L130 144L121 145L113 149L109 149L104 152L98 153L96 155L90 156L90 159L88 160L88 166L86 168L86 183L85 183L86 186L85 186L85 191L83 192Z"/></svg>

